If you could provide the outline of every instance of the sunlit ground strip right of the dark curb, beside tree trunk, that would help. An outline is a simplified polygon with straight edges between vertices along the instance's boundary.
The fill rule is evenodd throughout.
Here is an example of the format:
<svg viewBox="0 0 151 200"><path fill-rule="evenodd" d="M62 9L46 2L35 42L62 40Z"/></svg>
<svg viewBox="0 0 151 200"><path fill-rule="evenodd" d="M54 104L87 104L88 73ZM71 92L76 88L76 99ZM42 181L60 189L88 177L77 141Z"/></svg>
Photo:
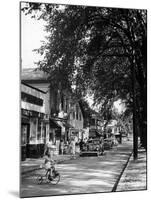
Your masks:
<svg viewBox="0 0 151 200"><path fill-rule="evenodd" d="M134 191L147 189L147 165L146 152L143 148L138 149L138 159L133 155L118 183L116 191Z"/></svg>

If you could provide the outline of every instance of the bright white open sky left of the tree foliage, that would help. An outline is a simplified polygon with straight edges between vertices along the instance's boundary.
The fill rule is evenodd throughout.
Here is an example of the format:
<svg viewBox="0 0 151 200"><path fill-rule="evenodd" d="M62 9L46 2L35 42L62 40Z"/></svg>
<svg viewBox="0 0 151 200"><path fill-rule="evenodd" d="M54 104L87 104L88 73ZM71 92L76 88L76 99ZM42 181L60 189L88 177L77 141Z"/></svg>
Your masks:
<svg viewBox="0 0 151 200"><path fill-rule="evenodd" d="M45 40L44 21L31 18L30 15L21 15L21 59L22 68L34 68L34 62L39 61L41 56L34 49L41 46Z"/></svg>

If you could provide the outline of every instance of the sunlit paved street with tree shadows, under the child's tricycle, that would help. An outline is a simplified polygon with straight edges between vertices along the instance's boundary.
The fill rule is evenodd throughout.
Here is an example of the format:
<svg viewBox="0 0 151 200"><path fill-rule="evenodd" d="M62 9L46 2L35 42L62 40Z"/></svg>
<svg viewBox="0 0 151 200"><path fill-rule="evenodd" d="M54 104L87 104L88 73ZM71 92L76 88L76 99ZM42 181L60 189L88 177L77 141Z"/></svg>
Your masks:
<svg viewBox="0 0 151 200"><path fill-rule="evenodd" d="M131 152L132 141L124 141L103 156L64 161L56 166L58 185L35 183L34 174L42 170L27 174L21 179L21 197L111 192Z"/></svg>

